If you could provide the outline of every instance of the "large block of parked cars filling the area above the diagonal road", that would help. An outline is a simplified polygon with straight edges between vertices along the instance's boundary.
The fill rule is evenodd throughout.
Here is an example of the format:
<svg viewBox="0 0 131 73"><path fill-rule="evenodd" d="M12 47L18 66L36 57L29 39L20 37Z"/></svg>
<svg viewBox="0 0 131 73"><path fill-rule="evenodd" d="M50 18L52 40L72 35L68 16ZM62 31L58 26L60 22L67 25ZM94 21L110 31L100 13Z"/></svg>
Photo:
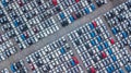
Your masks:
<svg viewBox="0 0 131 73"><path fill-rule="evenodd" d="M107 3L107 0L96 0L96 3L103 5ZM59 23L67 26L95 9L96 5L92 0L2 0L0 61L16 53L17 48L23 50L56 33L60 29Z"/></svg>

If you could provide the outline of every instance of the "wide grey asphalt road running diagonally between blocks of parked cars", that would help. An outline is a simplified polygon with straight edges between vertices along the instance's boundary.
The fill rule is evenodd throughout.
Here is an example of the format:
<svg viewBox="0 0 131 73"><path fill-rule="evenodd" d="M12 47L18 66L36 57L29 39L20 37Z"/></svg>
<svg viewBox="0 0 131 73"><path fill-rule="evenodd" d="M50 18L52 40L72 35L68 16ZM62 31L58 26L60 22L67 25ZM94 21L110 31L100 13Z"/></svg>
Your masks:
<svg viewBox="0 0 131 73"><path fill-rule="evenodd" d="M61 27L60 31L56 32L55 34L49 35L46 38L43 38L40 41L36 42L35 45L33 45L22 51L19 51L17 53L15 53L14 56L11 56L5 61L0 62L0 70L4 69L4 68L8 68L10 70L10 64L12 62L19 61L21 59L25 60L25 57L28 56L29 53L43 48L44 46L52 42L53 40L59 39L60 37L67 35L67 34L69 34L70 32L74 31L75 28L82 26L84 23L91 22L92 20L103 15L104 13L106 13L114 7L117 7L118 4L122 3L123 1L126 1L126 0L109 1L107 4L96 9L96 11L94 11L93 13L75 21L74 23L68 25L67 27ZM32 73L31 70L29 70L29 73Z"/></svg>

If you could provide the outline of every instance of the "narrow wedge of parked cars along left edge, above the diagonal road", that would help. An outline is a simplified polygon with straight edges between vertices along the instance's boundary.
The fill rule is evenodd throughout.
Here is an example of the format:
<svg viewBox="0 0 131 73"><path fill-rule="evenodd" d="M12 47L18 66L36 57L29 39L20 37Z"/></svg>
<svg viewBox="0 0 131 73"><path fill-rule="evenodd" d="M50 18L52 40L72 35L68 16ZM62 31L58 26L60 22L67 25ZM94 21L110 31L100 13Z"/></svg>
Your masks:
<svg viewBox="0 0 131 73"><path fill-rule="evenodd" d="M3 12L2 8L0 7L0 62L8 59L12 54L16 53L17 49L14 46L13 41L10 39L14 36L14 32L11 31L10 33L2 33L4 29L11 29L11 25L8 24L8 17ZM2 24L7 23L8 26L2 26Z"/></svg>

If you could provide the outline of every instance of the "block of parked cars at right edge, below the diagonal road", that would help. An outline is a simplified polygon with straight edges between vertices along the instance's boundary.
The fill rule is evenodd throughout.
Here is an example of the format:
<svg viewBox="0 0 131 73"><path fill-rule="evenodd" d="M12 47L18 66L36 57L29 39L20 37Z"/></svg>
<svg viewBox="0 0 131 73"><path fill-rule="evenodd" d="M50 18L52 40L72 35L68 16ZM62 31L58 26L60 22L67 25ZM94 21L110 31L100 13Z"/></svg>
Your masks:
<svg viewBox="0 0 131 73"><path fill-rule="evenodd" d="M131 1L114 8L104 16L117 40L131 48Z"/></svg>

